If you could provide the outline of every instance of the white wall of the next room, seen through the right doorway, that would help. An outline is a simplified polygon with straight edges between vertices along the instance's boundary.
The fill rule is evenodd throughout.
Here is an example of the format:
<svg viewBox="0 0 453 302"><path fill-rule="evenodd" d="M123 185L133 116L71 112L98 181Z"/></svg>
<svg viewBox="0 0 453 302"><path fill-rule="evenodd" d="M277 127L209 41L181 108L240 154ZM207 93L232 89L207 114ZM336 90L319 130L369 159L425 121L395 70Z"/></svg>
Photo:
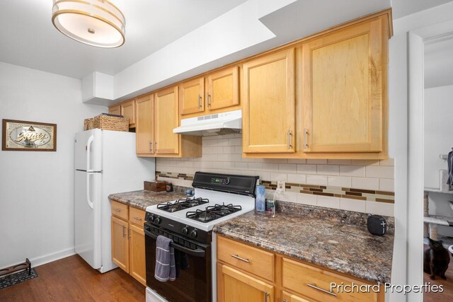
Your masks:
<svg viewBox="0 0 453 302"><path fill-rule="evenodd" d="M439 187L439 170L447 169L447 161L439 154L447 154L453 148L453 86L425 89L424 105L424 182L425 187ZM430 193L430 214L453 216L450 194ZM453 228L439 226L439 233L453 236Z"/></svg>

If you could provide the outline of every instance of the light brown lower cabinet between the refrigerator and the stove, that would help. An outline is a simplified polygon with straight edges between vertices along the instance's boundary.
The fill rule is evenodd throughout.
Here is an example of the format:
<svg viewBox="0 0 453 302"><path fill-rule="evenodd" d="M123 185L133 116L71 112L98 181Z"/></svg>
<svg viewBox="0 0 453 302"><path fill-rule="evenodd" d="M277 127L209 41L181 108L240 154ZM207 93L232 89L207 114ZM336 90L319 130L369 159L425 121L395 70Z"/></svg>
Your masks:
<svg viewBox="0 0 453 302"><path fill-rule="evenodd" d="M112 261L146 286L143 231L145 211L114 201L111 202L111 207Z"/></svg>

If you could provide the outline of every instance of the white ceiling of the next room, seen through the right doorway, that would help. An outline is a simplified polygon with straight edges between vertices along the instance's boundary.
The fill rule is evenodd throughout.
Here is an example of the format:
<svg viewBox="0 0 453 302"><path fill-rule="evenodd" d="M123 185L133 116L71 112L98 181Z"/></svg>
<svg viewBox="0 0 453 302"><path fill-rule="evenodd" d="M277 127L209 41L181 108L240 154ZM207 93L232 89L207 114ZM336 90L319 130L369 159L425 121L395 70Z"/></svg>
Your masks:
<svg viewBox="0 0 453 302"><path fill-rule="evenodd" d="M453 85L453 37L425 45L425 88Z"/></svg>

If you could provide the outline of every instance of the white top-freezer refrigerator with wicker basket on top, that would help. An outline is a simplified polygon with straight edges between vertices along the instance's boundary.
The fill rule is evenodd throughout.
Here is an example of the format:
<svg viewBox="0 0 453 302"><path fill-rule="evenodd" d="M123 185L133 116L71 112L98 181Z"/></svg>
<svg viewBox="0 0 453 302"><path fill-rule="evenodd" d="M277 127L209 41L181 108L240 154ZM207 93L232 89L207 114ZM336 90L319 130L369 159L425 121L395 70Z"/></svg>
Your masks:
<svg viewBox="0 0 453 302"><path fill-rule="evenodd" d="M108 195L143 190L154 180L154 158L135 153L135 134L92 129L76 134L75 250L91 267L108 272L112 262Z"/></svg>

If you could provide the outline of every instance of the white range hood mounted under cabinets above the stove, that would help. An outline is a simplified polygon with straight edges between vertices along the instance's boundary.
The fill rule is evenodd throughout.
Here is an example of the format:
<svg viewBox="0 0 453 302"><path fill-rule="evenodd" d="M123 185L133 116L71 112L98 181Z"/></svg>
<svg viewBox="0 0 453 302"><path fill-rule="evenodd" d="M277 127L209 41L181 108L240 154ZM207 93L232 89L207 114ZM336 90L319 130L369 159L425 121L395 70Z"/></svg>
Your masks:
<svg viewBox="0 0 453 302"><path fill-rule="evenodd" d="M212 135L239 133L242 129L242 110L190 117L181 120L181 125L173 133L206 137Z"/></svg>

